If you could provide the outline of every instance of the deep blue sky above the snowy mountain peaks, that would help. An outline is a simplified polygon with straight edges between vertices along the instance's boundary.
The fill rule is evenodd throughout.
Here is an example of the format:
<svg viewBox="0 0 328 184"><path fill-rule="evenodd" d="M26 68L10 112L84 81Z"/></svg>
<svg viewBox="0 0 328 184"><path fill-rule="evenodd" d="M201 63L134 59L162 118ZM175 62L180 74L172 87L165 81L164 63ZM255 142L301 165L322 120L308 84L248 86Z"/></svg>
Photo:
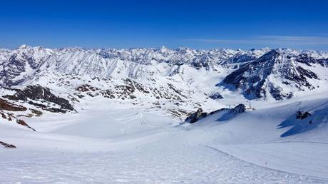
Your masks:
<svg viewBox="0 0 328 184"><path fill-rule="evenodd" d="M21 44L328 51L328 1L1 1L0 47Z"/></svg>

